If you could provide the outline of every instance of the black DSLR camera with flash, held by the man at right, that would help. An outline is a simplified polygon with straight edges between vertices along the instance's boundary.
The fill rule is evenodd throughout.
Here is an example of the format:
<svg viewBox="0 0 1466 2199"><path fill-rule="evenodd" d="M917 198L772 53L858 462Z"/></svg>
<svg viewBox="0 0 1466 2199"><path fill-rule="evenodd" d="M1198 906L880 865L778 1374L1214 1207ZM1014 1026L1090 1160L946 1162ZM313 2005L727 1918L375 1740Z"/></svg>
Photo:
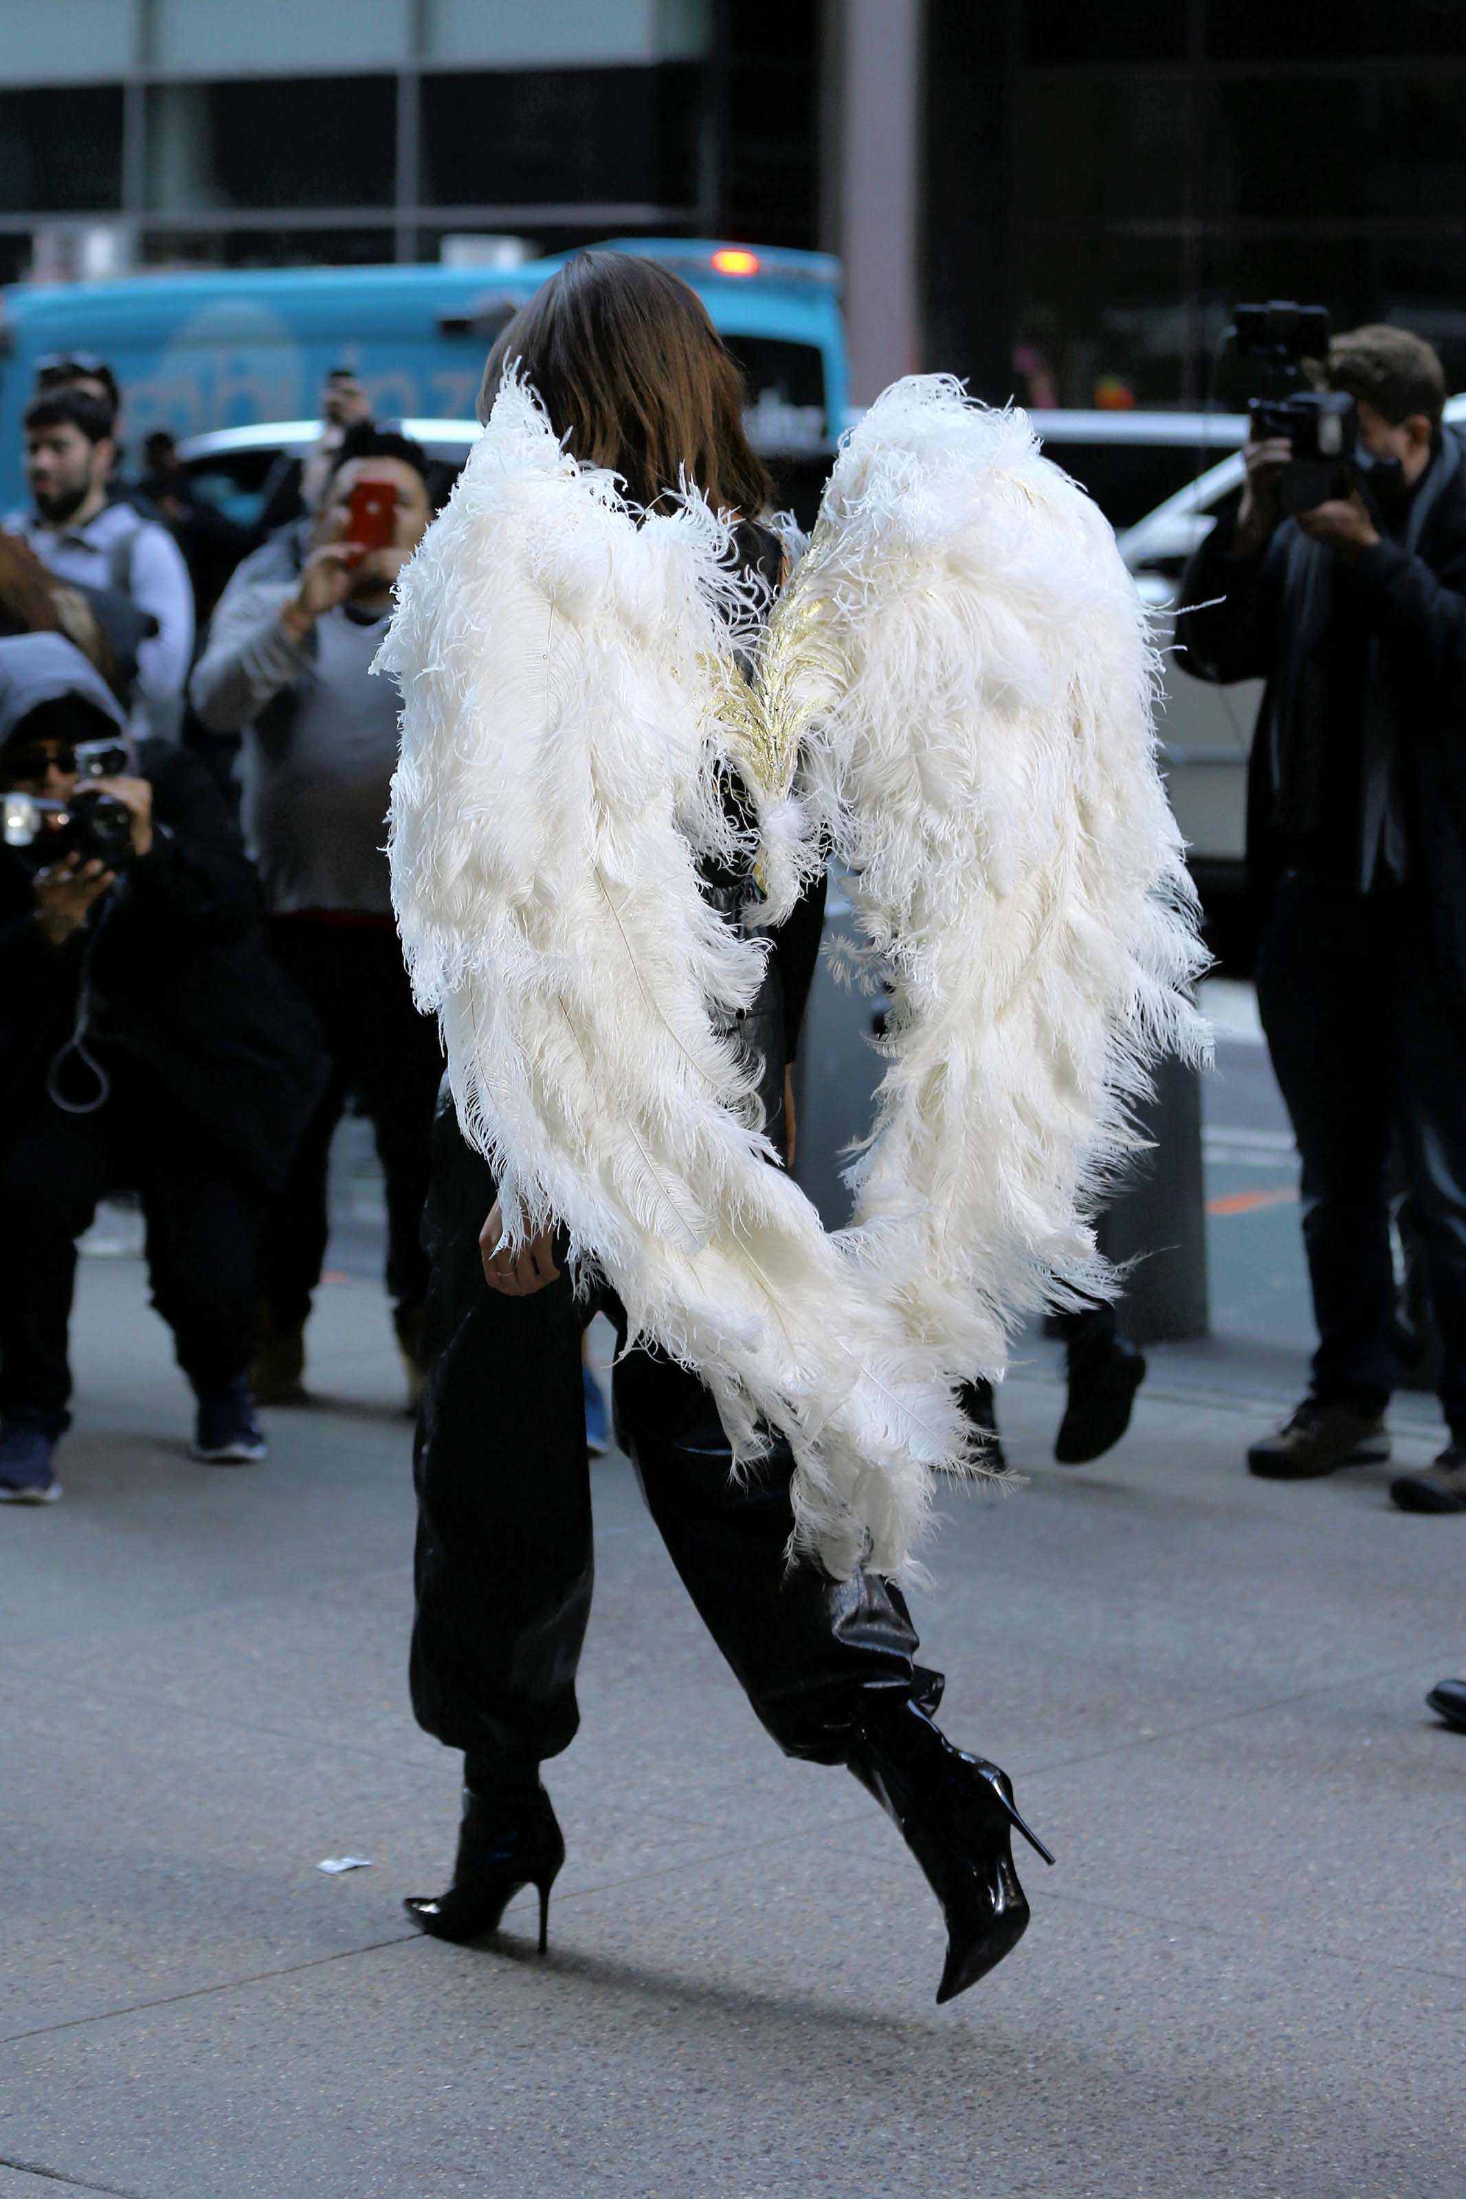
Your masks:
<svg viewBox="0 0 1466 2199"><path fill-rule="evenodd" d="M1312 512L1330 497L1347 497L1352 475L1369 460L1358 451L1354 398L1314 387L1328 361L1328 306L1292 299L1237 306L1226 339L1233 372L1251 385L1253 435L1286 435L1292 444L1292 464L1279 482L1284 512Z"/></svg>

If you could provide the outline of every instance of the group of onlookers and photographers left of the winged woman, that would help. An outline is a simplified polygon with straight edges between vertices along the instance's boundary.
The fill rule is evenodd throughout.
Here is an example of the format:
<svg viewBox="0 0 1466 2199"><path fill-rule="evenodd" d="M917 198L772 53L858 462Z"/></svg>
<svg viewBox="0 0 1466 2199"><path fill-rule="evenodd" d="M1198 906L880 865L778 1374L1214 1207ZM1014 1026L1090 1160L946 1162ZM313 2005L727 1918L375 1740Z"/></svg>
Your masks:
<svg viewBox="0 0 1466 2199"><path fill-rule="evenodd" d="M40 369L29 506L0 534L0 1500L59 1493L84 1236L141 1198L198 1458L264 1456L303 1394L347 1097L387 1183L387 1284L422 1381L418 1242L437 1034L382 853L396 690L371 677L429 464L345 372L255 534L169 435L123 468L105 363ZM363 515L371 517L367 530ZM354 528L369 539L356 539Z"/></svg>

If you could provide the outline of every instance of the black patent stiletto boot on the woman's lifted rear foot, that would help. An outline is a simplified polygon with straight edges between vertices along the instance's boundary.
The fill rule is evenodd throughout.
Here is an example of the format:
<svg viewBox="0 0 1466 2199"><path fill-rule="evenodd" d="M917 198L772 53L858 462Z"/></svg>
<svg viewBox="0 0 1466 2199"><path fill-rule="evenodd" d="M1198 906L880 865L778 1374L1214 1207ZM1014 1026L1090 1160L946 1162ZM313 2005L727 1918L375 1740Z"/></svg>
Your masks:
<svg viewBox="0 0 1466 2199"><path fill-rule="evenodd" d="M947 1964L936 1988L952 2001L976 1986L1022 1940L1029 1902L1013 1869L1013 1832L1053 1856L1013 1805L1007 1772L969 1757L910 1695L862 1711L848 1766L886 1810L921 1865L947 1920Z"/></svg>

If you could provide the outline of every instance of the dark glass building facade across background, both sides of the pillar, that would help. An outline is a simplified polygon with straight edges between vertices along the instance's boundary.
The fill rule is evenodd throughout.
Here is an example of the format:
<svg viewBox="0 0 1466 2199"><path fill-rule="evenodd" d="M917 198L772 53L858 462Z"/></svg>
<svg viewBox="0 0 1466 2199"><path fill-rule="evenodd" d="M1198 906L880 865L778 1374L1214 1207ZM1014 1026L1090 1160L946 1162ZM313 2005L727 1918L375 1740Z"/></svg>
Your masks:
<svg viewBox="0 0 1466 2199"><path fill-rule="evenodd" d="M1466 387L1466 0L888 0L921 40L928 365L1207 400L1240 297ZM0 0L0 279L437 257L455 231L840 248L842 0ZM846 169L848 172L848 150Z"/></svg>

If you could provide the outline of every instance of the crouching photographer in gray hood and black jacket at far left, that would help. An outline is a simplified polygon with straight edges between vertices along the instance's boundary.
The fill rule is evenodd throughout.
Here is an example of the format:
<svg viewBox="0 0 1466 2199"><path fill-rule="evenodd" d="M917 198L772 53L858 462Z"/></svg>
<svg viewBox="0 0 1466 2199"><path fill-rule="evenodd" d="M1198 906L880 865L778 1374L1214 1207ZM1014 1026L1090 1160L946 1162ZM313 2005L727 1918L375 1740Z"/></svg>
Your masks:
<svg viewBox="0 0 1466 2199"><path fill-rule="evenodd" d="M198 1399L193 1454L264 1456L248 1390L255 1247L323 1082L310 1009L268 957L259 888L207 767L145 741L95 783L125 844L46 860L77 748L123 717L57 633L0 640L0 787L51 803L0 847L0 1500L59 1495L75 1240L141 1190L154 1304ZM59 805L59 807L55 807ZM86 803L81 805L86 809Z"/></svg>

